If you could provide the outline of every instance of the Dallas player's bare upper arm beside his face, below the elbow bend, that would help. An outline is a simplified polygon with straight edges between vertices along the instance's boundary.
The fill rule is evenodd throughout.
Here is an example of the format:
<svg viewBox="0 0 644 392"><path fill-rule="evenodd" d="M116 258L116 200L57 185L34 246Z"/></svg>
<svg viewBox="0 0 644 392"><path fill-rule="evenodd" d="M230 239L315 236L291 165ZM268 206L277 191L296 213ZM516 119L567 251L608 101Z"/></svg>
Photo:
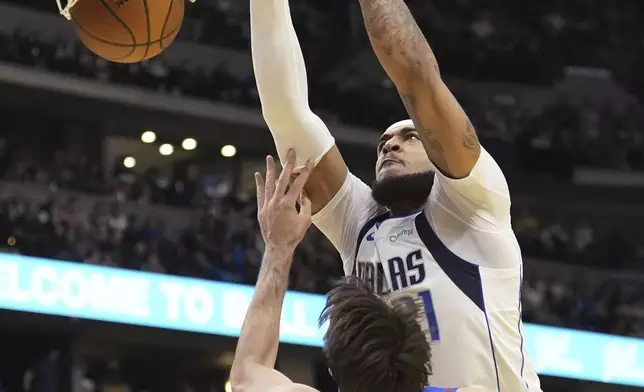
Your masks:
<svg viewBox="0 0 644 392"><path fill-rule="evenodd" d="M400 97L434 166L463 178L478 160L481 145L474 126L439 75L419 76L399 87Z"/></svg>

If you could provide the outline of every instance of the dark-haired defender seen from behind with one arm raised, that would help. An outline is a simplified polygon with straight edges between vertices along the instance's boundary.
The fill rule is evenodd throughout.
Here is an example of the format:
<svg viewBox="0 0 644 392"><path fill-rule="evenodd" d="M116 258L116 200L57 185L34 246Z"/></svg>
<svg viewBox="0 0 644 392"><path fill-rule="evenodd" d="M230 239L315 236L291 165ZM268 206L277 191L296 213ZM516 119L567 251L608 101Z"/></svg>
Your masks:
<svg viewBox="0 0 644 392"><path fill-rule="evenodd" d="M271 157L266 161L266 180L255 175L257 216L266 251L230 370L234 392L316 392L274 369L293 252L311 225L311 201L302 189L313 165L309 161L287 191L294 166L291 150L277 181ZM327 295L320 316L321 324L329 322L324 353L341 392L423 391L431 374L431 349L415 307L406 305L386 303L355 277ZM424 388L424 392L455 391ZM485 392L481 388L458 391Z"/></svg>

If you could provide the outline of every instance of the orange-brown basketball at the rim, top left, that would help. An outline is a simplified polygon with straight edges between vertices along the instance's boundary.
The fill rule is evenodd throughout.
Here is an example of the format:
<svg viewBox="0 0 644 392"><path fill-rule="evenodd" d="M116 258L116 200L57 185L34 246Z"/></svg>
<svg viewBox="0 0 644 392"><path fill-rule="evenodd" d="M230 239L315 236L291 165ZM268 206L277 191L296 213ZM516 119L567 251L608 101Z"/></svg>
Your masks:
<svg viewBox="0 0 644 392"><path fill-rule="evenodd" d="M71 20L96 55L136 63L163 52L179 33L185 0L79 0Z"/></svg>

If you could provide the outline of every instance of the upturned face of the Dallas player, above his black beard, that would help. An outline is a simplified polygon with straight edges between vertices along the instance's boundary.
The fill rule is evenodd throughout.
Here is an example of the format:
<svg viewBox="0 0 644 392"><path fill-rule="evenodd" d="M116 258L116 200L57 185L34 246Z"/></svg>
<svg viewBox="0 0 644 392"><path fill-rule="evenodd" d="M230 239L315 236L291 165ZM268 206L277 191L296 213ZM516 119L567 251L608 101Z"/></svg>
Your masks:
<svg viewBox="0 0 644 392"><path fill-rule="evenodd" d="M432 165L414 128L387 131L378 143L376 180L432 171Z"/></svg>

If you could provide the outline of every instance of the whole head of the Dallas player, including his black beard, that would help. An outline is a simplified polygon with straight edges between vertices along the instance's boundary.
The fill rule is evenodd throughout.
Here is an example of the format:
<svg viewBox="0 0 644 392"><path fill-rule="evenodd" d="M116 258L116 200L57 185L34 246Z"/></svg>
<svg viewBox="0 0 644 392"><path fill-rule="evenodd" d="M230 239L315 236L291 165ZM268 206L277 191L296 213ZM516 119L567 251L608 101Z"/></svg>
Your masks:
<svg viewBox="0 0 644 392"><path fill-rule="evenodd" d="M399 121L380 137L374 200L391 207L421 205L429 196L434 168L411 120Z"/></svg>

